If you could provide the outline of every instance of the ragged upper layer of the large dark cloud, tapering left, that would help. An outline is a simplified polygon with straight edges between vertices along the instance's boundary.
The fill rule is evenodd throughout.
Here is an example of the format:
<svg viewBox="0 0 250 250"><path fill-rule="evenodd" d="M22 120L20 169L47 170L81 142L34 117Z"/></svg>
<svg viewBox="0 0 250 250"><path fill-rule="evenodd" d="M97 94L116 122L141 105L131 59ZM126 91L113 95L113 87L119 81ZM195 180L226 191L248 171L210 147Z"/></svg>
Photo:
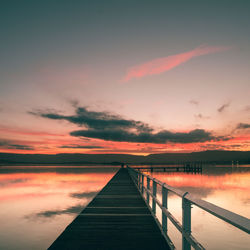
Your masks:
<svg viewBox="0 0 250 250"><path fill-rule="evenodd" d="M29 113L53 120L66 120L79 126L85 126L87 128L95 130L134 128L141 132L152 131L152 128L150 128L143 122L126 120L118 115L110 114L109 112L88 111L85 107L77 107L75 115L72 116L65 116L55 112L47 113L42 111Z"/></svg>

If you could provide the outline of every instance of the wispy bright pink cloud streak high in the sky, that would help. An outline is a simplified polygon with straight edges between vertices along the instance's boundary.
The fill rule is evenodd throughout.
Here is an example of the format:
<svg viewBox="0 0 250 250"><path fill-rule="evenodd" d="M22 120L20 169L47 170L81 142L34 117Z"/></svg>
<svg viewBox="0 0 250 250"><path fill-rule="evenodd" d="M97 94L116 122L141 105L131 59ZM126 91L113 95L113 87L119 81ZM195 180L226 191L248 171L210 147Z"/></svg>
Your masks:
<svg viewBox="0 0 250 250"><path fill-rule="evenodd" d="M158 75L163 72L169 71L180 64L183 64L190 59L202 55L207 55L211 53L216 53L220 51L225 51L230 49L230 47L212 47L212 46L199 46L191 51L187 51L181 54L171 55L162 58L156 58L152 61L136 65L130 68L122 79L122 82L127 82L134 78L142 78L148 75Z"/></svg>

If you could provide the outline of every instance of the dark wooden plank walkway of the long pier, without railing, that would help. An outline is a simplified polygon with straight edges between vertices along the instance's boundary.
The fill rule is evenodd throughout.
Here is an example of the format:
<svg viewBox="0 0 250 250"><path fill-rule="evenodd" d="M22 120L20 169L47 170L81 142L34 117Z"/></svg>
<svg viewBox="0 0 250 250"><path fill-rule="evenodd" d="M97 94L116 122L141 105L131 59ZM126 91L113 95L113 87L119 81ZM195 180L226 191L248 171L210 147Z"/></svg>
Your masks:
<svg viewBox="0 0 250 250"><path fill-rule="evenodd" d="M121 168L49 247L169 249L127 169Z"/></svg>

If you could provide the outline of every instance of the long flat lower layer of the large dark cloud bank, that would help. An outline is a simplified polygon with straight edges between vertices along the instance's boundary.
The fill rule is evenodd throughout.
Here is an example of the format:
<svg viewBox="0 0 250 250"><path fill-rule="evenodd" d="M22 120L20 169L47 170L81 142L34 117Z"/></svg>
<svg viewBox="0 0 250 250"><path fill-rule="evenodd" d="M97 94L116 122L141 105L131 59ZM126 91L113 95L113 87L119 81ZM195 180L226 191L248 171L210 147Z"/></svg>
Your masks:
<svg viewBox="0 0 250 250"><path fill-rule="evenodd" d="M214 137L203 129L195 129L187 133L174 133L167 130L158 133L132 133L125 130L78 130L70 133L72 136L89 137L107 141L125 141L141 143L191 143L222 139Z"/></svg>

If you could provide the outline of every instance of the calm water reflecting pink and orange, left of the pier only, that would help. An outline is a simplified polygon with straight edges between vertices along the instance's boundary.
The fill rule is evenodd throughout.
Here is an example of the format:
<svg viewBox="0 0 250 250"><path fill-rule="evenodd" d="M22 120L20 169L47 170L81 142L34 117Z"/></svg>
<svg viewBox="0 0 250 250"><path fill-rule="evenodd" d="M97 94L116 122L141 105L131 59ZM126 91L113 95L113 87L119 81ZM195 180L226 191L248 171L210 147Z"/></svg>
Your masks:
<svg viewBox="0 0 250 250"><path fill-rule="evenodd" d="M48 248L116 171L103 166L0 167L0 249Z"/></svg>

